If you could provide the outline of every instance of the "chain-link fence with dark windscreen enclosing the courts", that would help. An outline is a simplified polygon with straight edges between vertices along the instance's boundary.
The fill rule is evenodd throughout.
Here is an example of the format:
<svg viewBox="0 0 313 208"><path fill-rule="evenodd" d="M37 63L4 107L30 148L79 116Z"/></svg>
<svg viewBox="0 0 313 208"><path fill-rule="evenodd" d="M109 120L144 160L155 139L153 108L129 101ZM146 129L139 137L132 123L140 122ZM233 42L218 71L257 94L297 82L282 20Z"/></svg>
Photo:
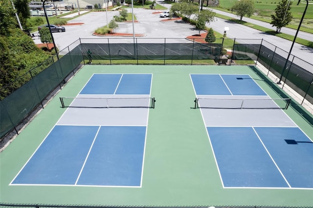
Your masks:
<svg viewBox="0 0 313 208"><path fill-rule="evenodd" d="M90 51L90 52L88 52ZM0 136L14 129L80 63L215 64L260 62L284 84L313 104L313 65L264 40L217 39L79 39L45 62L0 89ZM95 61L96 62L95 62ZM101 62L101 61L106 62ZM131 61L131 62L130 62ZM245 63L246 64L246 63ZM286 67L285 67L286 66ZM60 85L61 87L61 85ZM283 85L284 87L284 85Z"/></svg>

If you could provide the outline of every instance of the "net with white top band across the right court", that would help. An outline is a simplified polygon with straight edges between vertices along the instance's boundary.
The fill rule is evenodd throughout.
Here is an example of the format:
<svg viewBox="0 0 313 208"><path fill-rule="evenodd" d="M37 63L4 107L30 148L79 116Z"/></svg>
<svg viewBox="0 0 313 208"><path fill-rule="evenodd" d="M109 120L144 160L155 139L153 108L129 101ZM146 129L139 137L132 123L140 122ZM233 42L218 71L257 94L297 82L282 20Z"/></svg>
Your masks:
<svg viewBox="0 0 313 208"><path fill-rule="evenodd" d="M195 108L224 109L287 109L291 99L196 98Z"/></svg>

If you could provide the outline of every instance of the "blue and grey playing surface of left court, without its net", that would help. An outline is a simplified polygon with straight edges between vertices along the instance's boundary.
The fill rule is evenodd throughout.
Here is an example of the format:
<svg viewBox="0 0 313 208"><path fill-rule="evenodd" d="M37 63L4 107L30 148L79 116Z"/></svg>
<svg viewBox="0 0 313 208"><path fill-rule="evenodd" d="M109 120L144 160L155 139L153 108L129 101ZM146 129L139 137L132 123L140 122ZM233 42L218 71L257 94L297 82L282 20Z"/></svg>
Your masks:
<svg viewBox="0 0 313 208"><path fill-rule="evenodd" d="M93 74L80 96L149 97L151 83L152 74ZM141 187L148 112L67 108L11 184Z"/></svg>

